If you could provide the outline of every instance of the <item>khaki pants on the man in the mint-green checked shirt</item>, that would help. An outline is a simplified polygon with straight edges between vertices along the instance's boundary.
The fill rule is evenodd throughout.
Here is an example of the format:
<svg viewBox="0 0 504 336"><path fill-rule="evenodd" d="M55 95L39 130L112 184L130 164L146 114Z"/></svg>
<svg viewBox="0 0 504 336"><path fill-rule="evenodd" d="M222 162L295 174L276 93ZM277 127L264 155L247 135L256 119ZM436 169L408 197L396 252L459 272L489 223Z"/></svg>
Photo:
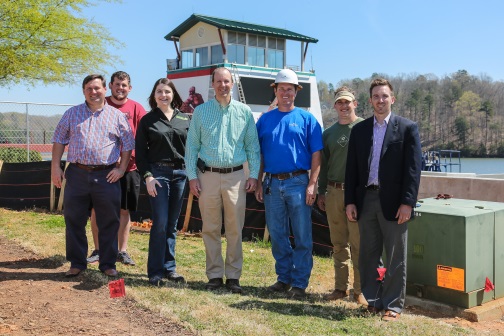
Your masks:
<svg viewBox="0 0 504 336"><path fill-rule="evenodd" d="M203 221L208 279L239 279L243 266L242 229L245 222L245 172L198 173L201 185L199 207ZM222 259L222 215L226 231L226 261Z"/></svg>

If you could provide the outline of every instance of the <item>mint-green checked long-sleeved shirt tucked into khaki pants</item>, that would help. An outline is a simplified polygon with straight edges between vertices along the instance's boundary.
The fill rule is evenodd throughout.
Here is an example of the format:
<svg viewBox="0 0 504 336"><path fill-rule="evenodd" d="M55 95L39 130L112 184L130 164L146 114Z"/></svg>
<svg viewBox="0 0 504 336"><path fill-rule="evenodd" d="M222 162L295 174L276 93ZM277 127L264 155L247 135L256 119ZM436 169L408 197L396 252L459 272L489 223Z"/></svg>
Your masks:
<svg viewBox="0 0 504 336"><path fill-rule="evenodd" d="M196 107L186 142L189 180L198 177L198 155L207 166L215 168L231 168L248 161L250 177L257 178L260 148L250 107L232 99L227 106L212 99Z"/></svg>

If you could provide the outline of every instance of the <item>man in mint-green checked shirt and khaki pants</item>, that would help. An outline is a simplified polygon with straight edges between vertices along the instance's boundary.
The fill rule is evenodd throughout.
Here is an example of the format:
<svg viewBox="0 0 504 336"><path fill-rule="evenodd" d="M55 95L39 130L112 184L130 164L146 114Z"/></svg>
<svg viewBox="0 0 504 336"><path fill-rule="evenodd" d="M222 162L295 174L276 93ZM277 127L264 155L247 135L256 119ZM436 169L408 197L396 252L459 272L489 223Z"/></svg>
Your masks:
<svg viewBox="0 0 504 336"><path fill-rule="evenodd" d="M186 170L191 193L199 198L206 249L208 290L221 287L241 293L242 229L247 192L254 192L259 175L257 130L250 108L231 98L233 77L226 68L212 73L215 99L194 110L186 143ZM197 167L203 160L205 167ZM247 178L243 163L248 162ZM224 212L222 211L224 208ZM224 213L226 259L222 258L221 228Z"/></svg>

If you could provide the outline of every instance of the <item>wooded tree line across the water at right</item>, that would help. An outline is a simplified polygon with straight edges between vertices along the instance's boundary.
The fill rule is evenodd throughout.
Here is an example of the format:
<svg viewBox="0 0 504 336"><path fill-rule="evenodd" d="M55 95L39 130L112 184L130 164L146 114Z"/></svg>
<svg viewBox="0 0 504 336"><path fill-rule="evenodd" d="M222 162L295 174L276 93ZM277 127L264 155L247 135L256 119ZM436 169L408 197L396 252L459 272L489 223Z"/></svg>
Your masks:
<svg viewBox="0 0 504 336"><path fill-rule="evenodd" d="M442 78L374 73L371 78L344 79L336 85L319 81L324 127L337 121L334 90L342 85L355 91L357 115L372 116L369 85L377 77L388 79L394 86L392 111L417 122L424 151L454 149L464 157L504 157L504 83L466 70Z"/></svg>

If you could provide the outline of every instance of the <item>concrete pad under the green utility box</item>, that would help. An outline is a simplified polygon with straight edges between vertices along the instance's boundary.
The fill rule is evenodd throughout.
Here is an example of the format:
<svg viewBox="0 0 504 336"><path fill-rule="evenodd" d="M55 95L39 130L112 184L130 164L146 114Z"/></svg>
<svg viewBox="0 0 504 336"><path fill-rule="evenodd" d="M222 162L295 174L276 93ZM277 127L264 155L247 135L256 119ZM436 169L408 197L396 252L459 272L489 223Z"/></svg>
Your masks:
<svg viewBox="0 0 504 336"><path fill-rule="evenodd" d="M436 312L452 317L461 317L471 322L501 320L504 317L504 298L492 300L481 306L461 308L416 296L406 296L406 307L415 306L430 312Z"/></svg>

